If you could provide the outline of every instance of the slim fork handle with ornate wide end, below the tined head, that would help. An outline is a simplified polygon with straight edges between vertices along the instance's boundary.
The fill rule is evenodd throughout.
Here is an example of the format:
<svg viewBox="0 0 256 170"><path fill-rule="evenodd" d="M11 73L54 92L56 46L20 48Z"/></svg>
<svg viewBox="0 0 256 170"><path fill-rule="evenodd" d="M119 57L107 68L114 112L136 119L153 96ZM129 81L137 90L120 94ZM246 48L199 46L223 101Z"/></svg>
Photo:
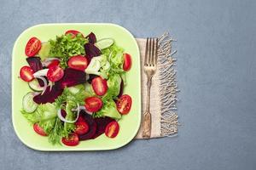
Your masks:
<svg viewBox="0 0 256 170"><path fill-rule="evenodd" d="M151 114L149 112L151 79L152 77L148 77L147 105L146 105L146 111L143 114L143 138L144 139L149 139L151 136Z"/></svg>

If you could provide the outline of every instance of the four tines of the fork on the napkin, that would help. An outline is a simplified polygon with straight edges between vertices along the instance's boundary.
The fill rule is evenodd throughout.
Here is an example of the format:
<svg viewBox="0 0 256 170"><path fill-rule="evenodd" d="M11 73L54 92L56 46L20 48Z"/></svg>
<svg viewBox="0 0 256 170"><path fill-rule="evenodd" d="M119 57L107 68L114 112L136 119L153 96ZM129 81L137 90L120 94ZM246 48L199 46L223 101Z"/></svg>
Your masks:
<svg viewBox="0 0 256 170"><path fill-rule="evenodd" d="M145 66L154 66L157 61L158 38L147 38L146 54L144 59Z"/></svg>

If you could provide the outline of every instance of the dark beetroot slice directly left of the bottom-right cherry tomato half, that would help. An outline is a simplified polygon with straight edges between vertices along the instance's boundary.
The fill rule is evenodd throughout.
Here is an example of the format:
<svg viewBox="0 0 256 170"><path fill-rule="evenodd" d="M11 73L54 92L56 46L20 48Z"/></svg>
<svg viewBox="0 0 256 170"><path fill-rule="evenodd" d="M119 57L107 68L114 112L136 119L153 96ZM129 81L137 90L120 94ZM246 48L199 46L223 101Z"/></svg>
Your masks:
<svg viewBox="0 0 256 170"><path fill-rule="evenodd" d="M97 129L96 129L96 133L94 134L94 136L92 137L93 139L96 139L98 136L100 136L102 133L105 133L105 128L107 127L109 122L113 122L114 119L110 118L108 116L106 117L100 117L100 118L96 118L94 119L96 124L97 124Z"/></svg>

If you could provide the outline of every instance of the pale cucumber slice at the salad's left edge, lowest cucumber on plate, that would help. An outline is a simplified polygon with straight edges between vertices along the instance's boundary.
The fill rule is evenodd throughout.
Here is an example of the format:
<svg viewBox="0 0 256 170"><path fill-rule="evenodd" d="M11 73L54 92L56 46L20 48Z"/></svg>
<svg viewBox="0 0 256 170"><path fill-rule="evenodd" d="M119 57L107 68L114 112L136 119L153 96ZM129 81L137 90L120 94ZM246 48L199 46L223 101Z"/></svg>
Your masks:
<svg viewBox="0 0 256 170"><path fill-rule="evenodd" d="M24 111L32 113L37 110L38 104L33 100L34 94L32 92L27 93L22 99L22 106Z"/></svg>

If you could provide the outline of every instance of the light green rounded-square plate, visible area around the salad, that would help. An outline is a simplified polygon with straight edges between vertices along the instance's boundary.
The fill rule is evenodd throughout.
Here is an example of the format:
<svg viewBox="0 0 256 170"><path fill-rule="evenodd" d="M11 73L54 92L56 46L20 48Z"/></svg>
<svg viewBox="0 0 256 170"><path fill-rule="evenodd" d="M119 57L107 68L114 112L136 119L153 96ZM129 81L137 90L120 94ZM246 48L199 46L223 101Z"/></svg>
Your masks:
<svg viewBox="0 0 256 170"><path fill-rule="evenodd" d="M97 39L112 37L117 44L125 48L125 53L132 56L132 67L127 73L127 86L124 94L131 95L132 106L128 115L119 120L119 134L108 139L102 134L97 139L81 141L79 145L67 147L61 144L49 144L48 138L34 133L32 125L20 113L22 97L30 90L26 82L19 77L20 68L26 63L25 46L30 37L38 37L42 42L55 38L67 30L78 30L84 35L93 31ZM141 122L141 79L140 54L135 38L125 28L113 24L43 24L32 26L20 34L15 42L12 59L12 119L15 133L20 140L34 150L67 151L67 150L113 150L125 144L137 134Z"/></svg>

